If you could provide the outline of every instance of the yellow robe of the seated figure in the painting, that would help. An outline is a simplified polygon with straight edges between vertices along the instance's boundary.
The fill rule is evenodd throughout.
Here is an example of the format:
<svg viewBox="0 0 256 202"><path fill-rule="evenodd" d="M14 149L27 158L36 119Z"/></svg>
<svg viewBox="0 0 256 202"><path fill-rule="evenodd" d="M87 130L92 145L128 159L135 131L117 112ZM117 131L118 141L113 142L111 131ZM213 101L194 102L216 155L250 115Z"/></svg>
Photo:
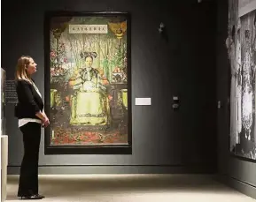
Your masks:
<svg viewBox="0 0 256 202"><path fill-rule="evenodd" d="M82 70L74 81L71 119L74 125L108 125L110 108L107 88L94 68Z"/></svg>

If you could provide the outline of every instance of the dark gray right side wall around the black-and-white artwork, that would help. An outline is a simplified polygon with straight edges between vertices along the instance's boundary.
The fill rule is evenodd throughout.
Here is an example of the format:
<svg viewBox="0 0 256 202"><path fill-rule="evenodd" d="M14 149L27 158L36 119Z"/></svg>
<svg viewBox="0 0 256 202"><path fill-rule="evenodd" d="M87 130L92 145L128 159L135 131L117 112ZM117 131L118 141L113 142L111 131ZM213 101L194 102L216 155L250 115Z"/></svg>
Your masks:
<svg viewBox="0 0 256 202"><path fill-rule="evenodd" d="M222 177L228 176L233 179L229 182L238 190L249 194L254 189L254 194L249 195L256 198L256 163L241 161L229 153L229 61L225 47L228 5L227 0L219 0L217 12L217 98L222 102L222 107L218 111L218 171ZM244 185L240 186L237 183Z"/></svg>

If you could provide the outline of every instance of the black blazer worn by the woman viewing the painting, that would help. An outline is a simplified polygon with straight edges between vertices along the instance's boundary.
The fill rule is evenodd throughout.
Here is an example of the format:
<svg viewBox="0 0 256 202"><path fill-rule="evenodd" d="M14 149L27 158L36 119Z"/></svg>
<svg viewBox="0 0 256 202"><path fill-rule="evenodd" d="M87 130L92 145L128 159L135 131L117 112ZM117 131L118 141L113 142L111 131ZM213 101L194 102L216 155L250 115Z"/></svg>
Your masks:
<svg viewBox="0 0 256 202"><path fill-rule="evenodd" d="M15 106L15 116L20 118L36 118L35 114L43 111L43 100L35 91L35 87L26 80L19 79L16 82L18 103Z"/></svg>

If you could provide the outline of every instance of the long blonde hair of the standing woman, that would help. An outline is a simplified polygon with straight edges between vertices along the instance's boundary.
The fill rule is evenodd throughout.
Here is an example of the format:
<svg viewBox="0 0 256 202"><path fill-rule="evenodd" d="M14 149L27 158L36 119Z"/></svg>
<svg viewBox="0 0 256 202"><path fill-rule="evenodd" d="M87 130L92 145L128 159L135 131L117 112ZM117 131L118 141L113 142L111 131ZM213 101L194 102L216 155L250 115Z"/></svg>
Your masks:
<svg viewBox="0 0 256 202"><path fill-rule="evenodd" d="M15 80L23 79L32 83L30 76L27 74L27 66L30 64L31 56L20 56L16 65Z"/></svg>

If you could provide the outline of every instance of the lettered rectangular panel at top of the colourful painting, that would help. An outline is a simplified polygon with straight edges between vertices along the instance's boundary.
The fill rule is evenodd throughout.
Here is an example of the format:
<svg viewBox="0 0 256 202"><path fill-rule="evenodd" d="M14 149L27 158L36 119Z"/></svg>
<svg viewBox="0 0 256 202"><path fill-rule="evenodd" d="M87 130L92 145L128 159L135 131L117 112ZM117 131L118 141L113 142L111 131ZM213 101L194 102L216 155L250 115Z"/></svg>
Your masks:
<svg viewBox="0 0 256 202"><path fill-rule="evenodd" d="M107 25L69 25L69 34L107 34Z"/></svg>

